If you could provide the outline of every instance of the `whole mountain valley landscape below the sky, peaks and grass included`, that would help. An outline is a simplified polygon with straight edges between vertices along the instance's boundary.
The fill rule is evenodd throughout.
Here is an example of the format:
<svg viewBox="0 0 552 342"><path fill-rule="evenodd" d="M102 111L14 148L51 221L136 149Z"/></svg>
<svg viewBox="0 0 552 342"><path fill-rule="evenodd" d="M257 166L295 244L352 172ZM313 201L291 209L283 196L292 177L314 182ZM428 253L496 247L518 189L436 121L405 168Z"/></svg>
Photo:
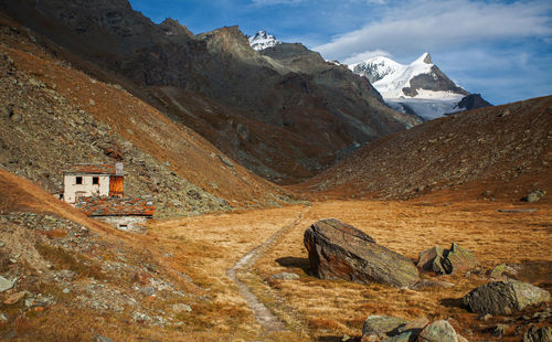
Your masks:
<svg viewBox="0 0 552 342"><path fill-rule="evenodd" d="M0 340L549 342L551 118L428 54L0 0Z"/></svg>

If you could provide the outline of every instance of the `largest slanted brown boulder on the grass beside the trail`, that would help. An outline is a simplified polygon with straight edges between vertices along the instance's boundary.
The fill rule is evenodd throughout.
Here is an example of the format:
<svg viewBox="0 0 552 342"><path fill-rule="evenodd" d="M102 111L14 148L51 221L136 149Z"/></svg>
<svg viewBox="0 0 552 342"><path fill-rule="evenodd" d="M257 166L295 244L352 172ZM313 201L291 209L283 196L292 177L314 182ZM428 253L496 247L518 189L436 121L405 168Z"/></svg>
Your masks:
<svg viewBox="0 0 552 342"><path fill-rule="evenodd" d="M310 267L321 279L346 279L410 287L420 280L408 258L336 218L321 220L305 231Z"/></svg>

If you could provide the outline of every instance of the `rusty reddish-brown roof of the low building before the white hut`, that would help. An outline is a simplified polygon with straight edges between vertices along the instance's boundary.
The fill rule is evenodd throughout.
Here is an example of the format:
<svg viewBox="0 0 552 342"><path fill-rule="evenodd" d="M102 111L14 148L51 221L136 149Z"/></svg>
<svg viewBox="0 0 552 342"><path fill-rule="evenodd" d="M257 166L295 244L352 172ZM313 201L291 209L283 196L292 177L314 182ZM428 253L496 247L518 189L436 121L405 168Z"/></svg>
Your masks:
<svg viewBox="0 0 552 342"><path fill-rule="evenodd" d="M81 197L75 206L88 216L153 216L151 199Z"/></svg>

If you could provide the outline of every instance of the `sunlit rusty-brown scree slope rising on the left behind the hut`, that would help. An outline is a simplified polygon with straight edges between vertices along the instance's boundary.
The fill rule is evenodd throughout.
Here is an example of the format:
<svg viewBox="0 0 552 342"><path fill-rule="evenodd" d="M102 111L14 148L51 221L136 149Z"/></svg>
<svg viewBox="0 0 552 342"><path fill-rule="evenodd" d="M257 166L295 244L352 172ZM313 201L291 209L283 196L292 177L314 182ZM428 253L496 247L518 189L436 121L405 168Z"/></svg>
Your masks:
<svg viewBox="0 0 552 342"><path fill-rule="evenodd" d="M46 53L0 20L0 165L62 189L72 163L123 159L128 195L153 195L158 214L199 214L288 201L188 127Z"/></svg>

